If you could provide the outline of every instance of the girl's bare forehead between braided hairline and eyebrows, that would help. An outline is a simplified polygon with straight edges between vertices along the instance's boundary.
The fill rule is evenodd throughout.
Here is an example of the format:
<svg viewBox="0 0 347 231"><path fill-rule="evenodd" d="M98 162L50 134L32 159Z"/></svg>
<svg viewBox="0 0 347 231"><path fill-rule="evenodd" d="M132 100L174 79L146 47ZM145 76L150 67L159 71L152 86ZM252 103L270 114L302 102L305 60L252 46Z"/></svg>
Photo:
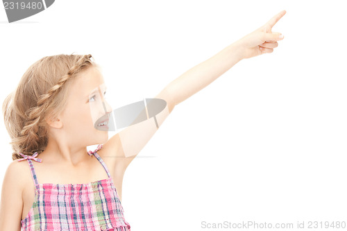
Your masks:
<svg viewBox="0 0 347 231"><path fill-rule="evenodd" d="M73 88L71 93L76 96L85 96L90 94L96 87L104 84L105 82L99 69L90 67L76 76L74 84L71 86Z"/></svg>

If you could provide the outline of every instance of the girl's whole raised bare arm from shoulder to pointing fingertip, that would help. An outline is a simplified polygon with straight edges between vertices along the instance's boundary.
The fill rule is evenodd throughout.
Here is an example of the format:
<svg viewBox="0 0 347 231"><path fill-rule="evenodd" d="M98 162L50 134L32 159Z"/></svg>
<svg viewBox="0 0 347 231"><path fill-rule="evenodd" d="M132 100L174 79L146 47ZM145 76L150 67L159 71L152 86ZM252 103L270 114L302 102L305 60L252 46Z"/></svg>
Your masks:
<svg viewBox="0 0 347 231"><path fill-rule="evenodd" d="M125 171L126 166L149 142L149 139L158 130L158 126L167 118L175 105L212 83L240 60L273 52L273 49L278 46L277 41L282 40L283 37L280 37L280 33L272 33L271 29L285 13L285 10L279 12L257 30L226 46L212 58L192 67L164 87L155 96L155 98L167 102L167 107L156 116L157 123L151 118L129 126L111 137L108 141L109 144L104 144L104 147L113 146L112 155L120 157L115 158L117 166Z"/></svg>

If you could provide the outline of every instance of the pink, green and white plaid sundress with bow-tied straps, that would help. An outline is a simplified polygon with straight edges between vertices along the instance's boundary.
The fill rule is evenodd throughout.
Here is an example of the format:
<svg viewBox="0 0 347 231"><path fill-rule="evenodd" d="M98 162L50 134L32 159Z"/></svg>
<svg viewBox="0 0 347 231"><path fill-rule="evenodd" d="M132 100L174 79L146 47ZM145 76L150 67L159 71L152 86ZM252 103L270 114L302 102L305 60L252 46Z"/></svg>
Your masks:
<svg viewBox="0 0 347 231"><path fill-rule="evenodd" d="M96 153L101 147L88 154L101 162L108 178L87 184L39 184L32 160L42 160L36 157L37 153L33 156L19 153L24 158L18 161L28 160L35 183L35 200L21 221L22 230L130 231L110 172Z"/></svg>

